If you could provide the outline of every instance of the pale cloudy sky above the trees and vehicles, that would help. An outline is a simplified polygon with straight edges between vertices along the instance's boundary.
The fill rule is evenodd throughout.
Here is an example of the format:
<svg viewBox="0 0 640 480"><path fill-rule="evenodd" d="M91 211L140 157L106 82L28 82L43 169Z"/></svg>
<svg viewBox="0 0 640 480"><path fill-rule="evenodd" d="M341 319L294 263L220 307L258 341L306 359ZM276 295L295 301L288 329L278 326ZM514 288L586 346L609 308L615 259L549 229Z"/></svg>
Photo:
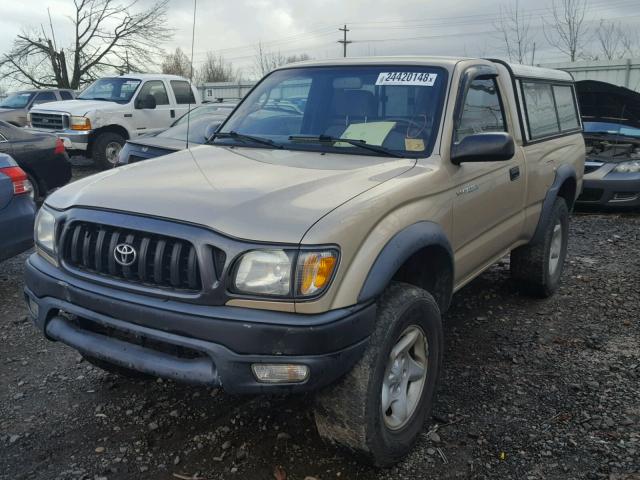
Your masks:
<svg viewBox="0 0 640 480"><path fill-rule="evenodd" d="M123 0L124 1L124 0ZM224 56L245 77L253 73L256 45L283 55L307 53L313 58L342 55L337 43L347 24L351 30L350 56L361 55L468 55L499 56L503 53L493 27L500 5L515 0L198 0L194 60L196 66L208 50ZM537 60L560 62L564 57L548 47L542 23L550 18L552 0L520 0L531 15L536 35ZM139 0L140 8L153 0ZM172 50L191 49L193 0L171 0L168 26L175 30ZM11 48L21 29L48 24L51 12L58 43L69 41L72 0L21 0L3 2L0 16L0 55ZM639 35L639 0L590 0L589 26L600 19L620 22ZM589 47L598 53L595 42ZM640 50L640 38L638 39ZM640 52L638 52L640 55ZM156 67L157 68L157 67ZM152 68L150 68L152 70Z"/></svg>

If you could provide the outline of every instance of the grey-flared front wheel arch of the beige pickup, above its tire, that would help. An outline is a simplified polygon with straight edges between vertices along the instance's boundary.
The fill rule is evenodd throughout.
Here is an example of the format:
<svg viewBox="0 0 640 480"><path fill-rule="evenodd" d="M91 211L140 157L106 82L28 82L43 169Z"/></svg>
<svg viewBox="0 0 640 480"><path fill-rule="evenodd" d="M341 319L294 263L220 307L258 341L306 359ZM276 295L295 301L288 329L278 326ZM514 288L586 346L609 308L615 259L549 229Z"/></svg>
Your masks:
<svg viewBox="0 0 640 480"><path fill-rule="evenodd" d="M378 297L398 281L429 292L444 312L451 301L453 280L453 251L444 230L434 222L418 222L398 232L380 251L358 302Z"/></svg>

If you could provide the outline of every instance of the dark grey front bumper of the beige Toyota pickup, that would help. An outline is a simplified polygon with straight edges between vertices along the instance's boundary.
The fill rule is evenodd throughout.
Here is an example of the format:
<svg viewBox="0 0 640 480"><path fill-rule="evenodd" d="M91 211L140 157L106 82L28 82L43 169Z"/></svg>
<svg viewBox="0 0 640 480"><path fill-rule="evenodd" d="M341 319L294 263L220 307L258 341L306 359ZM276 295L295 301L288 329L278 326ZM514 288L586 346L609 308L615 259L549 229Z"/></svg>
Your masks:
<svg viewBox="0 0 640 480"><path fill-rule="evenodd" d="M37 254L25 271L32 320L52 340L126 368L229 393L291 393L326 386L360 359L375 304L302 315L162 301L72 277ZM255 363L303 364L302 383L266 384Z"/></svg>

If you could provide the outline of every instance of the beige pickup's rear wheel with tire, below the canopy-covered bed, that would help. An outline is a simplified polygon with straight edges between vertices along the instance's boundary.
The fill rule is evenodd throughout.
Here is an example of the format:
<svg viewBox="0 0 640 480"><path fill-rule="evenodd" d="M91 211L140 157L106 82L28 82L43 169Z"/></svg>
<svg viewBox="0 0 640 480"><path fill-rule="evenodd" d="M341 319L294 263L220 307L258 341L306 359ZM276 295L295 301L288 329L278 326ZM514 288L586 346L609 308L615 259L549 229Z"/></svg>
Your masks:
<svg viewBox="0 0 640 480"><path fill-rule="evenodd" d="M567 256L569 209L563 198L553 204L542 241L511 252L511 277L524 293L550 297L560 285Z"/></svg>

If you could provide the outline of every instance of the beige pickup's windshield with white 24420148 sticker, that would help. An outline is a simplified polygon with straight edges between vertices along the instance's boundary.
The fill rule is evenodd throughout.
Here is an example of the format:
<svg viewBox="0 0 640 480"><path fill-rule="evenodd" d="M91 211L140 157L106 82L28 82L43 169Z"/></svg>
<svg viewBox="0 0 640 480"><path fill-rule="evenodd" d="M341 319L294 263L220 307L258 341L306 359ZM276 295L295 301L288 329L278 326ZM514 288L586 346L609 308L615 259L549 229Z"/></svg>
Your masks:
<svg viewBox="0 0 640 480"><path fill-rule="evenodd" d="M426 157L440 121L446 76L441 68L406 65L278 70L247 96L215 143L269 148L239 134L290 150L360 155L387 150ZM338 138L351 142L334 141ZM358 141L382 148L375 152Z"/></svg>

